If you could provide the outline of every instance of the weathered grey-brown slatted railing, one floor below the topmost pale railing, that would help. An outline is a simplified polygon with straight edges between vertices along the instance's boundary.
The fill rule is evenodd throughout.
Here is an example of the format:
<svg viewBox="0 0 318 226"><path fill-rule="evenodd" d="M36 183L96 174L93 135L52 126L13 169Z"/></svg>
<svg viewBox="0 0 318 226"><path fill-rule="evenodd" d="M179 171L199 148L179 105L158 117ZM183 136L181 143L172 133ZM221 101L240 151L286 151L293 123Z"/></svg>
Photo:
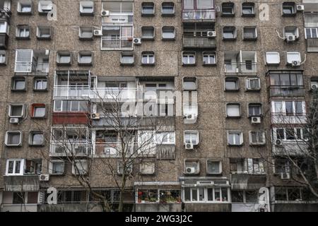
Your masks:
<svg viewBox="0 0 318 226"><path fill-rule="evenodd" d="M194 37L184 35L182 43L184 48L216 48L216 39L211 37Z"/></svg>

